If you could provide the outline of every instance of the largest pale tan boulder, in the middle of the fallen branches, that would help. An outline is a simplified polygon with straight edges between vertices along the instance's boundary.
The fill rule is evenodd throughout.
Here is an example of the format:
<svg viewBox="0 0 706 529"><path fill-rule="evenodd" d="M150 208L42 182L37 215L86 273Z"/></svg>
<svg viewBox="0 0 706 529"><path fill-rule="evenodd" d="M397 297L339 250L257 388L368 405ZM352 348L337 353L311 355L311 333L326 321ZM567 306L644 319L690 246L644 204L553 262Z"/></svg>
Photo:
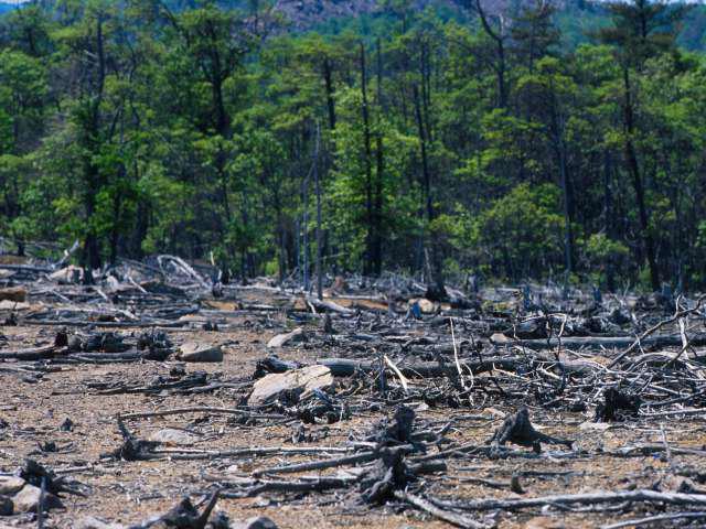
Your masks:
<svg viewBox="0 0 706 529"><path fill-rule="evenodd" d="M263 406L287 392L291 400L307 398L314 389L333 385L333 375L327 366L307 366L287 373L267 375L255 382L248 406Z"/></svg>

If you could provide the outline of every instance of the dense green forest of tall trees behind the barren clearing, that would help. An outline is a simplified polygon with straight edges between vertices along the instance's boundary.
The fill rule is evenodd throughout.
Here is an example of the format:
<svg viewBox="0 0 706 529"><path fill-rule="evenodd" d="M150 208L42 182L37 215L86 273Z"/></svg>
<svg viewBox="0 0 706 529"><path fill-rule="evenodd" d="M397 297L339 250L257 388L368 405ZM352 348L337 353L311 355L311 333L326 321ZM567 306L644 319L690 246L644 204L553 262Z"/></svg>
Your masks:
<svg viewBox="0 0 706 529"><path fill-rule="evenodd" d="M0 18L8 251L173 253L224 282L392 270L439 294L706 285L702 8L384 0L293 30L236 3Z"/></svg>

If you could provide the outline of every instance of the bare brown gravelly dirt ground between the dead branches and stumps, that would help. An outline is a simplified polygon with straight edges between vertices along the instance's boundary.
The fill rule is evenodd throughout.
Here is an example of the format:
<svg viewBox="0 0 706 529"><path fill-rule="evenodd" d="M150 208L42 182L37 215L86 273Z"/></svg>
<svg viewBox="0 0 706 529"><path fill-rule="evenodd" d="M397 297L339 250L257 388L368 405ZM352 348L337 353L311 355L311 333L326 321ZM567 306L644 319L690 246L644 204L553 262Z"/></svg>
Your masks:
<svg viewBox="0 0 706 529"><path fill-rule="evenodd" d="M221 364L189 364L188 373L204 370L220 374L222 380L242 380L250 377L258 359L267 355L266 344L284 326L284 316L272 315L271 328L253 325L247 316L227 317L222 331L170 331L175 344L185 341L227 343L225 359ZM279 320L279 321L278 321ZM50 344L55 327L7 326L2 334L8 338L6 348L20 349ZM126 331L129 332L129 331ZM284 359L300 361L319 356L331 356L332 350L312 350L303 346L285 348ZM204 395L97 395L86 382L96 380L148 380L154 376L167 376L178 361L107 365L61 365L55 373L41 376L0 370L0 419L8 425L0 429L0 472L11 473L25 457L55 469L87 485L87 497L65 496L64 510L51 512L47 527L79 527L86 516L105 521L137 523L171 508L181 497L203 501L214 481L228 477L247 477L255 469L281 463L311 461L313 456L240 457L214 461L154 461L122 462L103 457L114 451L122 439L117 428L116 415L131 412L154 411L184 407L232 408L239 403L244 392L237 389L220 389ZM12 368L12 363L0 364L0 369ZM414 382L413 384L421 384ZM448 434L458 443L482 444L493 430L502 423L504 414L516 411L517 402L478 402L467 409L428 409L421 402L407 402L417 408L418 417L442 425L450 418L460 419ZM361 434L379 420L386 410L356 413L350 421L320 424L309 432L321 439L303 446L343 446L349 436ZM674 455L667 461L664 455L644 457L611 457L596 455L599 449L610 451L619 446L638 443L662 443L663 435L670 444L704 450L706 423L703 420L674 420L651 422L625 422L586 428L591 411L552 412L530 406L532 420L545 433L576 439L578 449L586 455L575 458L507 458L488 460L471 455L449 458L448 472L429 476L428 492L446 498L521 497L510 489L489 487L478 478L509 482L516 473L541 471L536 476L524 475L521 479L524 497L549 494L575 494L595 490L625 490L633 488L674 489L678 478L671 472L672 465L706 467L698 456ZM488 419L478 419L483 415ZM61 424L69 419L72 431L62 431ZM238 424L233 418L210 413L186 413L164 418L151 418L128 422L130 430L140 439L164 428L192 432L197 441L194 449L235 450L252 446L292 446L291 424L270 425L267 422ZM41 450L41 445L53 442L56 451ZM297 445L301 446L301 445ZM323 471L322 475L333 473ZM311 474L311 473L308 473ZM295 476L288 476L293 478ZM675 484L673 485L672 482ZM624 505L619 507L625 507ZM648 507L654 509L654 507ZM277 494L246 499L223 499L217 509L231 520L245 520L254 516L268 516L280 528L441 528L447 523L409 507L388 506L370 508L356 505L350 492L288 496L281 500ZM479 514L482 521L495 521L500 528L589 528L610 521L645 516L650 511L637 506L629 512L611 511L610 507L592 511L526 509L515 514ZM652 510L654 511L654 510ZM17 527L35 527L34 515L0 519ZM0 523L1 525L1 523ZM670 527L670 526L659 526Z"/></svg>

